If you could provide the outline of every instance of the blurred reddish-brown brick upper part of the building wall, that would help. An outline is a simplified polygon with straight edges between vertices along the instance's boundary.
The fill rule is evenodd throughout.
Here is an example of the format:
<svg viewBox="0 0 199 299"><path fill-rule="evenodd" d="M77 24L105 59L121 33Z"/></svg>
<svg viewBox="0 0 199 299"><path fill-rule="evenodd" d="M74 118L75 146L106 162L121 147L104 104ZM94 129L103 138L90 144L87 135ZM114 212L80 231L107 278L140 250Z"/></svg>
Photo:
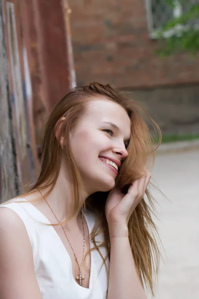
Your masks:
<svg viewBox="0 0 199 299"><path fill-rule="evenodd" d="M77 84L143 89L199 82L199 55L159 58L145 0L69 0Z"/></svg>

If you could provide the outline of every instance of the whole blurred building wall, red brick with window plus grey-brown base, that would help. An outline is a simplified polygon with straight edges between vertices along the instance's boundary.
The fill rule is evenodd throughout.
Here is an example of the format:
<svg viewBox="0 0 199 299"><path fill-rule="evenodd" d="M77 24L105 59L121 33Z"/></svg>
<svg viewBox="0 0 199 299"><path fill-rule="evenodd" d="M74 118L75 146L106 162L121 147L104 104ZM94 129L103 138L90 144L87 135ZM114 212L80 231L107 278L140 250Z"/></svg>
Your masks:
<svg viewBox="0 0 199 299"><path fill-rule="evenodd" d="M178 11L163 0L69 4L77 84L111 82L128 90L164 134L199 132L199 55L155 53L156 28Z"/></svg>

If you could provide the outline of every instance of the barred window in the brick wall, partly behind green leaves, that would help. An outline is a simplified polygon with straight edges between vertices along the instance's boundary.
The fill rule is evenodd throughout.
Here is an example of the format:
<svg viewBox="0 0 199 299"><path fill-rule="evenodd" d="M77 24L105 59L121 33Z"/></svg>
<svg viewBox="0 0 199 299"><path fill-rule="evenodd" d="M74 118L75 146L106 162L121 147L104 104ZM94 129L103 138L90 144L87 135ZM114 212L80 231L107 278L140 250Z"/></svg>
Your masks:
<svg viewBox="0 0 199 299"><path fill-rule="evenodd" d="M159 29L170 20L187 13L195 4L199 4L199 0L176 0L173 6L169 5L167 0L146 0L148 27L151 36L156 37ZM191 20L189 25L199 25L199 20ZM168 32L166 36L171 34L172 32Z"/></svg>

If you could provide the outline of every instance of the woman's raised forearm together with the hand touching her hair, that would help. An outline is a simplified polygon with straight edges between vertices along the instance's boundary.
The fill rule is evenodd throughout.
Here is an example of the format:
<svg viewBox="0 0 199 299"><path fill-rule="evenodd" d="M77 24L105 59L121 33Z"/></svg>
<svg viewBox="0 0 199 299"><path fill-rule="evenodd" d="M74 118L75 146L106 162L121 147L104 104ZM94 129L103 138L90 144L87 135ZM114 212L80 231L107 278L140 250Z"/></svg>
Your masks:
<svg viewBox="0 0 199 299"><path fill-rule="evenodd" d="M135 180L122 194L115 189L109 194L105 205L110 236L110 269L107 299L146 299L136 273L128 238L128 221L140 200L144 197L151 178L147 172Z"/></svg>

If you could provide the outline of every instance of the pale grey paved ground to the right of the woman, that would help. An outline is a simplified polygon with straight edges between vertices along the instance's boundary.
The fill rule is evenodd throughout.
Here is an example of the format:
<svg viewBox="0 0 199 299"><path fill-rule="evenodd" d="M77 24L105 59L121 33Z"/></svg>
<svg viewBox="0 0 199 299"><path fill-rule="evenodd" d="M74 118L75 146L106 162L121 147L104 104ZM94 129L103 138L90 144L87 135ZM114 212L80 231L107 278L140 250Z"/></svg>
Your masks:
<svg viewBox="0 0 199 299"><path fill-rule="evenodd" d="M165 249L155 299L199 299L199 149L158 154L152 177L169 199L153 192Z"/></svg>

